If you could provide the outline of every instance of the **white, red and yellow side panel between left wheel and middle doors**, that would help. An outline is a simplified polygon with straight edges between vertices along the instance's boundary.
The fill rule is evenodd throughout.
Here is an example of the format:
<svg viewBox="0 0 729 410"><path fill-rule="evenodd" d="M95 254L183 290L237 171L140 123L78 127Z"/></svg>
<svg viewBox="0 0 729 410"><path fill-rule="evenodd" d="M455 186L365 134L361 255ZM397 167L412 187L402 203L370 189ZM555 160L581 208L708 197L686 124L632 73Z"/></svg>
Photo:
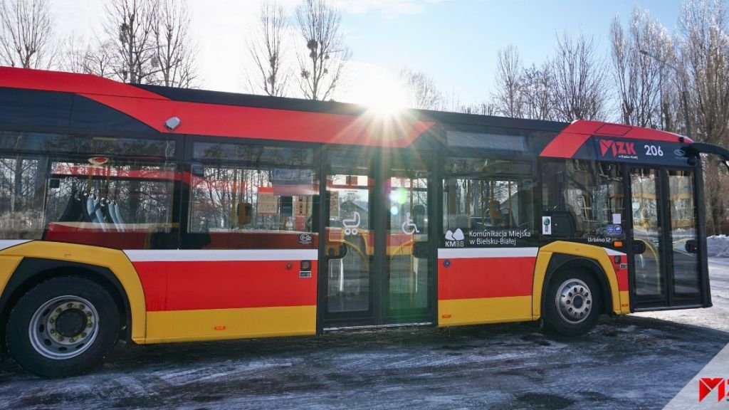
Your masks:
<svg viewBox="0 0 729 410"><path fill-rule="evenodd" d="M316 250L127 253L144 287L147 343L316 334Z"/></svg>

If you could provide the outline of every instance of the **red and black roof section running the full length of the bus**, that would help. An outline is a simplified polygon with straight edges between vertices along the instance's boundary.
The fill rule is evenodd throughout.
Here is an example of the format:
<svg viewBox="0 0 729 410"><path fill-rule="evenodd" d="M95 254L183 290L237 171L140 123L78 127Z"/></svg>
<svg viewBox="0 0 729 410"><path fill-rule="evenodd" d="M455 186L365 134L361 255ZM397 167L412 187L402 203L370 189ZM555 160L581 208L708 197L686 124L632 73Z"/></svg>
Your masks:
<svg viewBox="0 0 729 410"><path fill-rule="evenodd" d="M596 121L560 123L418 109L386 116L362 105L334 101L129 85L91 74L12 67L0 67L0 108L0 125L11 128L33 125L34 129L64 132L113 128L142 134L372 147L409 147L428 134L438 134L443 139L443 130L446 134L448 130L461 132L452 138L446 136L445 144L464 144L463 148L472 144L472 148L478 148L479 139L493 135L524 138L534 134L542 142L530 151L558 158L581 158L588 155L582 152L586 146L588 156L593 155L592 152L602 150L599 142L593 141L599 136L671 144L692 142L665 131ZM165 122L173 117L179 119L179 126L168 128ZM513 148L513 144L507 145Z"/></svg>

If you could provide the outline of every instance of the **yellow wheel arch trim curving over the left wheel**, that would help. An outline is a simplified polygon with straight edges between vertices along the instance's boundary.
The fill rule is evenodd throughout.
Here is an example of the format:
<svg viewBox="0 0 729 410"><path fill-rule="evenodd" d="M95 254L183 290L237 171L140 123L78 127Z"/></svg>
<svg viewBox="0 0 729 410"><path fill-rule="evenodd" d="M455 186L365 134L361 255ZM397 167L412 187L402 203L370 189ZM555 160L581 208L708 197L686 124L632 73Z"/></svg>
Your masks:
<svg viewBox="0 0 729 410"><path fill-rule="evenodd" d="M120 250L50 241L31 241L0 251L0 257L61 260L69 263L101 266L111 271L124 288L130 307L132 341L143 344L147 327L144 292L139 276L129 259ZM0 279L1 281L1 279Z"/></svg>

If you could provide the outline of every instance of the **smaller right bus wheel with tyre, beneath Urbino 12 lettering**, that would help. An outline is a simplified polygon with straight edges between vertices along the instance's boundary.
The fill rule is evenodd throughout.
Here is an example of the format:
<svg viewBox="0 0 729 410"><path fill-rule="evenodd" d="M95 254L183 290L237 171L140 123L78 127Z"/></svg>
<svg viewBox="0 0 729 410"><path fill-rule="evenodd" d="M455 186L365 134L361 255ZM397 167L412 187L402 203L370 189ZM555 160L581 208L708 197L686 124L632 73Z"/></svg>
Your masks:
<svg viewBox="0 0 729 410"><path fill-rule="evenodd" d="M597 323L601 313L600 286L585 271L561 271L545 293L545 325L563 336L580 336Z"/></svg>

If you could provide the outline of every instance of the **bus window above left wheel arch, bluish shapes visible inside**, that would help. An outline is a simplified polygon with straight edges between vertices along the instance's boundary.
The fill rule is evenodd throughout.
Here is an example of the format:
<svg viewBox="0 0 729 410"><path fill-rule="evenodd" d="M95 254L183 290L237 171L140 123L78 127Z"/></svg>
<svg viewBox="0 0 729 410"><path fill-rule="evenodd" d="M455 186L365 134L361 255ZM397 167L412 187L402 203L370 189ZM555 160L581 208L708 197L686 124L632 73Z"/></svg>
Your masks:
<svg viewBox="0 0 729 410"><path fill-rule="evenodd" d="M44 239L120 249L176 247L174 163L52 158Z"/></svg>

